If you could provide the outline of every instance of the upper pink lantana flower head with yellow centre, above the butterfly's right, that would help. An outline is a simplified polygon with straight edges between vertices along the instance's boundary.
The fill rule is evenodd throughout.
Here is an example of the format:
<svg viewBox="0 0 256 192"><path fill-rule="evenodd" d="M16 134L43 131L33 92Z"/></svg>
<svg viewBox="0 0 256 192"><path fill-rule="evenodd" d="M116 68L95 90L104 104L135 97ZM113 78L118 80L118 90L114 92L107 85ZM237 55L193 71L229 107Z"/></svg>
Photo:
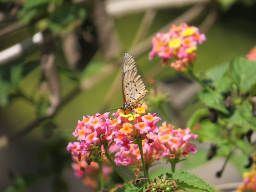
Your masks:
<svg viewBox="0 0 256 192"><path fill-rule="evenodd" d="M161 57L163 66L172 60L170 67L177 71L185 71L196 60L197 45L205 40L205 35L199 33L197 27L185 23L179 26L172 25L169 32L157 33L153 37L153 48L149 58L152 60L156 55Z"/></svg>

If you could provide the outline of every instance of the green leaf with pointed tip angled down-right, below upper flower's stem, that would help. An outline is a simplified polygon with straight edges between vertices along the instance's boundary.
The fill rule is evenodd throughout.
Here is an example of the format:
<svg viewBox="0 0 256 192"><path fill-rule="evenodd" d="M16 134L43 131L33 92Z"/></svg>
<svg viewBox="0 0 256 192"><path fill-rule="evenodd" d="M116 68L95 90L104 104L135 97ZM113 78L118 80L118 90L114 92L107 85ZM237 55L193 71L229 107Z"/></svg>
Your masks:
<svg viewBox="0 0 256 192"><path fill-rule="evenodd" d="M210 108L216 109L225 114L229 113L225 105L223 104L224 97L217 92L200 92L199 99Z"/></svg>

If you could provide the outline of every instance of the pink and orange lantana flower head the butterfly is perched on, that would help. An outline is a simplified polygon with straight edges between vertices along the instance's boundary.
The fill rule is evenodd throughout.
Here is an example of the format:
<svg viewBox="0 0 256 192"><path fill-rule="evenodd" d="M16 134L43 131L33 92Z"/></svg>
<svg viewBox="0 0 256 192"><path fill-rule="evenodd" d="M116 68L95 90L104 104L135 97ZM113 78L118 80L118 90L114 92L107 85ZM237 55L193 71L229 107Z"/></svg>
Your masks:
<svg viewBox="0 0 256 192"><path fill-rule="evenodd" d="M80 160L82 156L91 154L94 150L104 154L104 149L113 143L122 146L124 151L129 151L130 144L138 138L145 138L151 143L152 140L146 135L150 132L158 133L157 121L161 118L156 114L145 114L146 109L147 106L143 103L134 110L134 115L118 110L113 114L116 117L114 119L108 118L109 113L83 117L82 121L78 121L73 133L79 142L69 143L68 151Z"/></svg>

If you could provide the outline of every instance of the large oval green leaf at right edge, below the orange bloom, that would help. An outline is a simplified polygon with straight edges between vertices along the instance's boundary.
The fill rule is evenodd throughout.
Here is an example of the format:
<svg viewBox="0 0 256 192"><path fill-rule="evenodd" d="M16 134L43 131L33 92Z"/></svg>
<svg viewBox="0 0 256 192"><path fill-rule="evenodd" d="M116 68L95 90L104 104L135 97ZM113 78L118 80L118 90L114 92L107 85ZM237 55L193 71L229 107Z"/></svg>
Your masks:
<svg viewBox="0 0 256 192"><path fill-rule="evenodd" d="M248 92L256 81L256 61L236 57L230 62L230 74L241 92Z"/></svg>

